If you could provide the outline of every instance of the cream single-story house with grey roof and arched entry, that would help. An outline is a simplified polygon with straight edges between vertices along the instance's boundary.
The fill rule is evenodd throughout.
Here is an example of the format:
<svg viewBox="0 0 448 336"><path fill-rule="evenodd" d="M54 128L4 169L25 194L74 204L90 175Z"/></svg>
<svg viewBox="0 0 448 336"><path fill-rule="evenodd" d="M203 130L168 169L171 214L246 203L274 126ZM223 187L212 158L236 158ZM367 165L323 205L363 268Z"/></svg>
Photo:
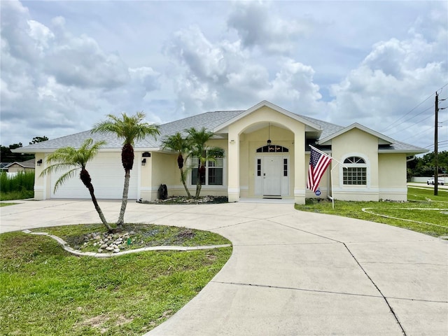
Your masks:
<svg viewBox="0 0 448 336"><path fill-rule="evenodd" d="M263 101L245 111L214 111L160 125L160 136L147 137L134 146L135 162L131 172L130 199L155 200L160 184L169 195L184 195L177 155L161 148L162 139L196 127L216 134L210 146L223 148L224 157L207 163L202 195L226 195L229 202L240 197L290 198L304 204L316 197L306 188L309 145L320 148L333 160L321 180L321 197L334 195L337 200L406 200L406 158L426 153L425 148L395 141L357 123L342 127L322 120L300 116ZM122 142L90 131L44 141L20 148L20 153L35 153L43 160L36 167L34 195L48 198L88 198L78 179L67 181L53 193L60 174L40 177L47 167L46 156L57 148L78 147L86 138L106 140L97 157L87 164L98 198L120 199L124 169L120 153ZM190 162L186 162L189 167ZM334 168L334 169L333 169ZM333 169L330 174L330 169ZM188 186L194 192L195 174L190 170ZM192 176L193 175L193 176ZM332 178L332 181L330 179ZM333 190L330 190L331 187Z"/></svg>

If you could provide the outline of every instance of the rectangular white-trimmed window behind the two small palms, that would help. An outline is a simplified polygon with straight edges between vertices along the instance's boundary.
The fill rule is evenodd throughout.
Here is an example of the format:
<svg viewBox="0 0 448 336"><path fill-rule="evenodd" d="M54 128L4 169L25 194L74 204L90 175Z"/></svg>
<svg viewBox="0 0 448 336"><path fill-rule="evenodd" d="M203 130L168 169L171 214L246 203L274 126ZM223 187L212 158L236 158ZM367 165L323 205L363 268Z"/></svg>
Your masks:
<svg viewBox="0 0 448 336"><path fill-rule="evenodd" d="M223 153L224 154L224 153ZM214 161L205 162L203 173L201 174L202 186L223 186L224 155L216 156ZM191 162L191 184L197 183L197 169L200 166L200 159L193 156Z"/></svg>

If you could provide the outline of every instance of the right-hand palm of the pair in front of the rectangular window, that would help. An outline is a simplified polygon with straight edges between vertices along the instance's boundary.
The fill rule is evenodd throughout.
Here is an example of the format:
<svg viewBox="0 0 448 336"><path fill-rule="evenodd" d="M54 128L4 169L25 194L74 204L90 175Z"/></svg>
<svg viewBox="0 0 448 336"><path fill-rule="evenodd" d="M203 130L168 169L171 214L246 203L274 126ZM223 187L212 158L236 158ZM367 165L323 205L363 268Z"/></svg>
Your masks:
<svg viewBox="0 0 448 336"><path fill-rule="evenodd" d="M215 158L223 155L223 149L218 147L209 147L206 145L213 136L214 132L209 132L205 127L200 131L195 127L186 130L188 133L188 142L190 144L190 157L197 158L197 179L195 198L199 198L202 189L202 179L205 176L205 163L215 161Z"/></svg>

